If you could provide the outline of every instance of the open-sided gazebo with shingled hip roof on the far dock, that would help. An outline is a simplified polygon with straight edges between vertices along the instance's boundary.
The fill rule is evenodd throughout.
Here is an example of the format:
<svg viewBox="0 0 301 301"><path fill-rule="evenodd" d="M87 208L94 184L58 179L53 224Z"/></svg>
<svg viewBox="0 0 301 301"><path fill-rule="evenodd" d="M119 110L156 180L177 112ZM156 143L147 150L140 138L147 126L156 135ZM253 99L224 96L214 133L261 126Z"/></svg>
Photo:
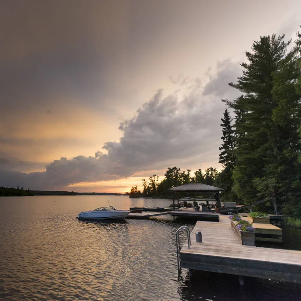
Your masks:
<svg viewBox="0 0 301 301"><path fill-rule="evenodd" d="M176 186L173 188L169 188L169 191L173 192L173 207L175 210L175 194L179 192L212 192L212 193L217 193L217 202L218 202L218 208L221 211L221 195L220 192L223 191L224 189L218 188L215 186L203 184L203 183L189 183L189 184L184 184L181 186Z"/></svg>

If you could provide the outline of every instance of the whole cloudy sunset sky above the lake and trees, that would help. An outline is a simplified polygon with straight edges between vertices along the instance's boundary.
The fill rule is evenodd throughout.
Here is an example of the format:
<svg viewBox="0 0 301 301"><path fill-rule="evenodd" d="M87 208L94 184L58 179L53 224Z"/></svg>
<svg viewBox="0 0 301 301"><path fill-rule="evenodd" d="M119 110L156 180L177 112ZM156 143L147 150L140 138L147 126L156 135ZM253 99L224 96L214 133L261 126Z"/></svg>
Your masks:
<svg viewBox="0 0 301 301"><path fill-rule="evenodd" d="M253 41L300 24L294 0L1 1L0 186L126 192L221 169L228 83Z"/></svg>

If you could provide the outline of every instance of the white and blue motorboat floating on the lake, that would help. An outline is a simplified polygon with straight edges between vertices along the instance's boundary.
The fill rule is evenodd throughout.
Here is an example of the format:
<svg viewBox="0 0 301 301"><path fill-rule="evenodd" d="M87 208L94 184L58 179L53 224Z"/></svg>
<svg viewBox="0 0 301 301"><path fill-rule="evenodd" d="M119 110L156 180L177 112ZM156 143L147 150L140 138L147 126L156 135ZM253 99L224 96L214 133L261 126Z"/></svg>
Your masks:
<svg viewBox="0 0 301 301"><path fill-rule="evenodd" d="M130 214L129 210L118 210L115 206L100 207L93 211L83 211L79 219L121 219Z"/></svg>

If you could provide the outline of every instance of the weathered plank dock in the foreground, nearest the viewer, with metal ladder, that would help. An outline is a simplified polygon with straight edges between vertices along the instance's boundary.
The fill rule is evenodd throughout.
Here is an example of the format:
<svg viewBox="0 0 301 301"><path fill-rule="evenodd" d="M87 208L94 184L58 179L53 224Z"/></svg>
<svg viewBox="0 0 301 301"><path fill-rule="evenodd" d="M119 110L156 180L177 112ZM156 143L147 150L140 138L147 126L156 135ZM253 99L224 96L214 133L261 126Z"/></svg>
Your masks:
<svg viewBox="0 0 301 301"><path fill-rule="evenodd" d="M191 247L185 243L180 250L180 267L301 283L301 251L241 245L230 221L222 220L196 223ZM198 231L201 243L195 239Z"/></svg>

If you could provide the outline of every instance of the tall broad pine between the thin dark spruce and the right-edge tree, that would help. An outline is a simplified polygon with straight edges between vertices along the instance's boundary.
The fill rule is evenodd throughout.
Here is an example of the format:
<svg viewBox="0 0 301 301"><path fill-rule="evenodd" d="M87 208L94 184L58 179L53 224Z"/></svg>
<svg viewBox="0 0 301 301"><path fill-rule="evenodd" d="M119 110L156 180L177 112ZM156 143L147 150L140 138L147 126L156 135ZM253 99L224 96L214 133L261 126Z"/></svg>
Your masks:
<svg viewBox="0 0 301 301"><path fill-rule="evenodd" d="M290 43L283 39L284 35L264 36L253 43L252 52L246 52L249 62L241 64L243 75L236 84L229 84L243 95L234 101L225 101L237 114L234 190L246 203L258 198L253 180L265 174L267 152L271 147L268 133L276 107L272 95L273 74L279 70Z"/></svg>

